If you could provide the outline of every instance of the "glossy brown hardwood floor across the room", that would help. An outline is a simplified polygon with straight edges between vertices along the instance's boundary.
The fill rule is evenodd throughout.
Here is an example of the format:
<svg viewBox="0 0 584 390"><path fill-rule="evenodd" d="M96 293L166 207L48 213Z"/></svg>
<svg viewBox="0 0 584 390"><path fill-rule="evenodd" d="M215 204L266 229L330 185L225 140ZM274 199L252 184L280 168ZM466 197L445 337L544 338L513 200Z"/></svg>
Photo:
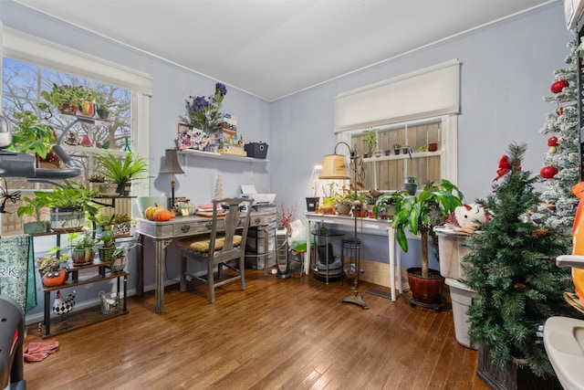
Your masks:
<svg viewBox="0 0 584 390"><path fill-rule="evenodd" d="M369 310L340 299L345 281L265 277L246 270L246 290L191 284L130 297L130 314L30 342L58 341L57 353L25 364L35 389L486 389L477 353L454 338L452 310L412 308L365 293ZM25 348L26 348L25 345Z"/></svg>

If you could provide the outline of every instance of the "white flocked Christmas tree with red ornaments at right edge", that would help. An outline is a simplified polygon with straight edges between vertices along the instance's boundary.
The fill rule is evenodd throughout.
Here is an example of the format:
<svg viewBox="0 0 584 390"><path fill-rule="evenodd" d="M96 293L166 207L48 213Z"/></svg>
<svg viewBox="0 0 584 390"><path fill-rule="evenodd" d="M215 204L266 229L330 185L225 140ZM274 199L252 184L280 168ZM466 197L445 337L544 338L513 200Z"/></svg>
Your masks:
<svg viewBox="0 0 584 390"><path fill-rule="evenodd" d="M550 227L569 233L576 214L578 198L571 188L579 183L579 132L576 78L578 70L577 43L568 43L570 53L567 69L554 72L551 85L553 96L545 101L556 104L556 111L548 112L540 134L547 134L549 150L544 156L540 175L545 179L543 205L537 208L537 217Z"/></svg>

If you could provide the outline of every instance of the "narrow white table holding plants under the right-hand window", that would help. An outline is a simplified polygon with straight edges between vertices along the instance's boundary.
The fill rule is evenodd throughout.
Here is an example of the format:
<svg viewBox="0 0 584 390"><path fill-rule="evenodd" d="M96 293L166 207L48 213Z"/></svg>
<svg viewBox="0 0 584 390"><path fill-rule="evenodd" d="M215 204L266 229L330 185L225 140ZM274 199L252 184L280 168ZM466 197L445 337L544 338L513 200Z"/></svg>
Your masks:
<svg viewBox="0 0 584 390"><path fill-rule="evenodd" d="M345 227L354 227L355 219L352 216L328 216L324 214L316 213L305 213L305 217L308 220L307 229L307 242L310 242L310 223L322 222L324 224L335 224ZM357 218L357 233L370 234L377 236L387 236L388 241L388 251L389 251L389 262L390 262L390 287L391 287L391 300L397 300L396 295L396 285L395 285L395 273L397 271L398 285L397 289L400 294L403 292L401 285L401 250L395 247L395 232L391 228L391 220L389 219L373 219L373 218ZM308 274L308 268L310 266L310 250L307 250L305 256L304 270ZM358 269L356 269L359 272Z"/></svg>

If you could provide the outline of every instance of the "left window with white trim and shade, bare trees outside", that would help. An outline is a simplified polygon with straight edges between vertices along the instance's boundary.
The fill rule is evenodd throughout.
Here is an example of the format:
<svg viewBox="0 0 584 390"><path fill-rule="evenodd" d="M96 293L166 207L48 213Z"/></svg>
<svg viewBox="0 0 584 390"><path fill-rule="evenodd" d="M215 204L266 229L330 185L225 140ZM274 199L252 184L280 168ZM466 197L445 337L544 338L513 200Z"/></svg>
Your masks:
<svg viewBox="0 0 584 390"><path fill-rule="evenodd" d="M10 120L17 111L33 111L38 117L45 114L38 111L36 102L41 101L40 92L51 90L57 85L86 85L99 90L113 101L110 121L96 122L95 125L79 123L71 127L64 137L76 143L82 135L89 135L92 147L76 145L63 146L85 169L83 177L75 178L77 183L87 182L93 172L93 155L106 153L103 145L109 143L112 153L120 153L130 148L132 153L148 156L149 124L148 111L152 90L151 78L134 69L120 66L87 53L63 47L45 39L26 35L0 24L0 71L3 75L2 113ZM67 129L70 118L58 114L45 120L57 133ZM117 152L120 151L120 152ZM132 195L149 195L150 183L142 180L132 185ZM49 188L47 184L26 183L25 179L6 178L0 187L8 192L20 190L30 195L35 189ZM26 194L28 192L28 194ZM13 206L16 210L19 205ZM14 213L15 210L6 210ZM6 213L6 214L8 214ZM11 216L12 214L9 214ZM3 222L6 220L3 216ZM2 230L5 231L3 223Z"/></svg>

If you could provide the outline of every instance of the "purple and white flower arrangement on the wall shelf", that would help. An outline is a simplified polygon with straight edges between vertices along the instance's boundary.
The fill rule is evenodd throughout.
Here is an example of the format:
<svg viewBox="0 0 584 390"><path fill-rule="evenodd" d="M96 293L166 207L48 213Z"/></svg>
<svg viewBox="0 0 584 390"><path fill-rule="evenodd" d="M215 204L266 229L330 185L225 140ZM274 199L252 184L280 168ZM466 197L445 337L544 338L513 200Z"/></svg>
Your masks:
<svg viewBox="0 0 584 390"><path fill-rule="evenodd" d="M223 83L215 84L213 96L189 96L184 100L186 116L181 117L181 121L193 125L194 128L202 130L206 134L211 134L219 127L223 120L223 114L219 111L219 106L227 94L227 87Z"/></svg>

